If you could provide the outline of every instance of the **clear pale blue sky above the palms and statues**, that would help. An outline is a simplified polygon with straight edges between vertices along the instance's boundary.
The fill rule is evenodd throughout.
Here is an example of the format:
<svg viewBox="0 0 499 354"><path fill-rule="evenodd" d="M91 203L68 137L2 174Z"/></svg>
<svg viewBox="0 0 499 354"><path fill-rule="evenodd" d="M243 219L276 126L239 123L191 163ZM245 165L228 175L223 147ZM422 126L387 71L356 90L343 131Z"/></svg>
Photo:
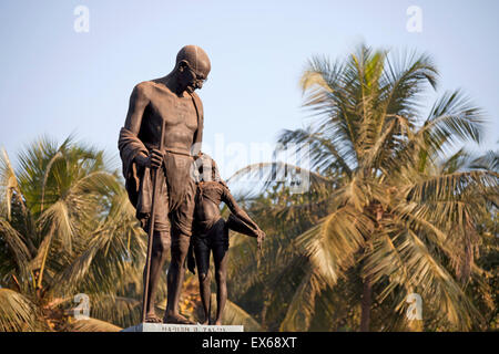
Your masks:
<svg viewBox="0 0 499 354"><path fill-rule="evenodd" d="M80 4L90 10L89 33L73 30ZM409 6L422 10L421 33L406 30ZM306 117L297 83L307 59L344 58L365 41L430 53L441 92L462 87L487 111L492 148L498 17L496 0L2 0L0 147L13 158L42 134L62 142L74 132L118 154L132 87L169 73L184 44L212 60L200 92L205 144L214 146L216 134L225 144L274 143Z"/></svg>

